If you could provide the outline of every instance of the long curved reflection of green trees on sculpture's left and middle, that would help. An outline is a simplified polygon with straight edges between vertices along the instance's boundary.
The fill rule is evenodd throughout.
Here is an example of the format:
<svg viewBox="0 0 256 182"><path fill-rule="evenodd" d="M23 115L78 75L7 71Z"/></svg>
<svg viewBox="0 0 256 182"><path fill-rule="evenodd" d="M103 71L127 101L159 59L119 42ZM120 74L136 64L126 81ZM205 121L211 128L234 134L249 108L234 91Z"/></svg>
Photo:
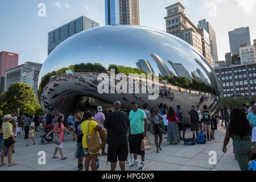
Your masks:
<svg viewBox="0 0 256 182"><path fill-rule="evenodd" d="M115 64L110 64L108 70L110 69L115 69L115 73L124 73L125 75L129 75L129 73L138 73L141 75L141 73L146 74L147 72L144 71L143 69L138 69L138 68L131 68L131 67L123 67L121 65L115 65ZM38 97L40 100L40 96L42 94L42 90L44 86L47 85L49 80L51 79L52 76L59 76L61 74L65 74L67 70L73 70L75 72L107 72L106 68L104 68L100 63L81 63L81 64L75 64L75 65L70 65L68 68L61 68L58 71L52 71L51 73L47 73L42 77L42 80L39 85L38 89Z"/></svg>

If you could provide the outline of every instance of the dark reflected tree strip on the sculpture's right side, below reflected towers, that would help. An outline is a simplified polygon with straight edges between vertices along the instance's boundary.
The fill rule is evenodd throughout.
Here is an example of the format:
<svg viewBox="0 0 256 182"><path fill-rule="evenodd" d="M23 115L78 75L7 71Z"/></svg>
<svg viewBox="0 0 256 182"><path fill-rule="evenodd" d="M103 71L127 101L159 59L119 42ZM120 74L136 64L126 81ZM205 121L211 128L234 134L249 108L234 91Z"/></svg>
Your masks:
<svg viewBox="0 0 256 182"><path fill-rule="evenodd" d="M170 84L175 86L180 86L185 89L192 88L194 90L201 90L203 92L209 92L216 95L216 90L212 88L212 86L206 85L204 82L200 82L196 79L192 79L192 83L189 81L187 77L162 77L161 79L167 80ZM161 80L159 78L159 80Z"/></svg>

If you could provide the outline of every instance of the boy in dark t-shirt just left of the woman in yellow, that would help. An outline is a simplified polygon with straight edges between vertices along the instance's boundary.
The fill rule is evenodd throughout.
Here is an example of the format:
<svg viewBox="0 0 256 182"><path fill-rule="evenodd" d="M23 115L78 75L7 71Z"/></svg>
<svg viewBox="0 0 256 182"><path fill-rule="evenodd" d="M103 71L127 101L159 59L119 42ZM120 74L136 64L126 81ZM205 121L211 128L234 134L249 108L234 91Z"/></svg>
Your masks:
<svg viewBox="0 0 256 182"><path fill-rule="evenodd" d="M81 130L81 123L82 121L82 112L80 110L75 110L74 115L76 117L76 122L75 122L75 130L69 126L69 129L73 131L77 135L77 140L76 140L76 158L77 158L77 163L78 167L76 171L82 171L82 162L84 160L84 150L82 148L82 130Z"/></svg>

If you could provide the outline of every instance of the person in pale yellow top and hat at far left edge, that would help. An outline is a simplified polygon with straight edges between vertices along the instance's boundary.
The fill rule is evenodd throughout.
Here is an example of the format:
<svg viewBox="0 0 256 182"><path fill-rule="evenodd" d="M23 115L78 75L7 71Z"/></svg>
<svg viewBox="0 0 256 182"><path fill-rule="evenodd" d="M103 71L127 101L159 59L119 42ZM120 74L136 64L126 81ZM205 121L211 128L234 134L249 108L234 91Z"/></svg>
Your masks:
<svg viewBox="0 0 256 182"><path fill-rule="evenodd" d="M11 121L11 118L13 118L13 117L11 117L11 114L6 114L3 119L2 130L3 130L4 142L3 142L3 146L2 146L3 150L1 153L1 165L0 165L1 167L6 165L6 163L3 162L3 159L5 158L6 150L8 150L8 166L16 165L11 162L11 156L13 155L14 143L17 142L17 140L14 138L14 135L13 135L13 125L11 125L11 123L9 123L9 121ZM10 142L10 141L12 141L12 142Z"/></svg>

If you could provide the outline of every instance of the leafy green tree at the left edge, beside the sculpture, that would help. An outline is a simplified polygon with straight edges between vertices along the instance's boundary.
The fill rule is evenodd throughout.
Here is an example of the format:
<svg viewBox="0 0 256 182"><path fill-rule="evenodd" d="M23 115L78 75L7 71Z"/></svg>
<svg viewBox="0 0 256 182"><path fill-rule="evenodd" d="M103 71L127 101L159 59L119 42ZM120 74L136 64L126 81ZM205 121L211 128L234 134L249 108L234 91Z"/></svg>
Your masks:
<svg viewBox="0 0 256 182"><path fill-rule="evenodd" d="M32 87L22 82L12 84L7 92L1 95L0 101L3 113L17 113L18 108L21 110L24 105L30 105L32 108L38 105Z"/></svg>

